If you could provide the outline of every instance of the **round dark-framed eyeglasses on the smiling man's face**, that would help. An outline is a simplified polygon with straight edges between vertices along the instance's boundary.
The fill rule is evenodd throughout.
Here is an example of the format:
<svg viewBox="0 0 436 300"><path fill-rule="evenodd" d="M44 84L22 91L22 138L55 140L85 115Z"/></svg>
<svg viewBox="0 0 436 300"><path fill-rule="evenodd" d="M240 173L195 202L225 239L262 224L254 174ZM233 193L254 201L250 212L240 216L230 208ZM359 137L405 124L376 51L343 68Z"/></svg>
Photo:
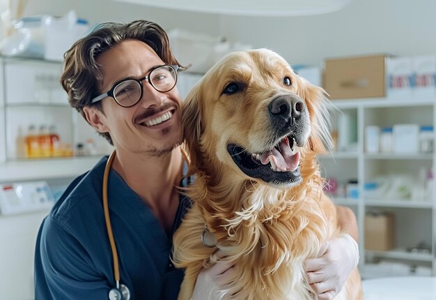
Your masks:
<svg viewBox="0 0 436 300"><path fill-rule="evenodd" d="M151 86L161 93L171 91L176 87L178 65L157 66L150 70L145 77L134 79L126 78L116 82L106 93L102 93L91 100L96 103L106 97L112 97L119 105L131 107L139 102L142 98L142 82L148 80Z"/></svg>

